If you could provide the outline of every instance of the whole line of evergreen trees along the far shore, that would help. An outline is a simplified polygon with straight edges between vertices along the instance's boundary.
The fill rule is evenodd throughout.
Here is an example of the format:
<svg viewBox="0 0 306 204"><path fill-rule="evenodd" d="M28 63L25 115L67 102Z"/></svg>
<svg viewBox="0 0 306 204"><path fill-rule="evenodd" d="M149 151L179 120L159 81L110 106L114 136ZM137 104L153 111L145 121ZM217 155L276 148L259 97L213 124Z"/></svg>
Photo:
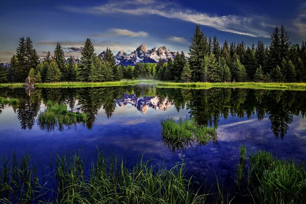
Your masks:
<svg viewBox="0 0 306 204"><path fill-rule="evenodd" d="M306 82L306 42L292 44L282 25L271 35L271 43L265 46L246 46L227 41L223 46L217 37L204 35L196 25L189 58L177 52L167 62L139 63L135 66L116 65L110 48L103 55L94 53L94 45L87 38L81 49L81 58L70 56L67 60L60 43L54 56L47 52L39 61L32 40L20 38L10 67L0 68L0 83L24 82L30 75L36 82L105 82L122 79L157 79L176 82Z"/></svg>

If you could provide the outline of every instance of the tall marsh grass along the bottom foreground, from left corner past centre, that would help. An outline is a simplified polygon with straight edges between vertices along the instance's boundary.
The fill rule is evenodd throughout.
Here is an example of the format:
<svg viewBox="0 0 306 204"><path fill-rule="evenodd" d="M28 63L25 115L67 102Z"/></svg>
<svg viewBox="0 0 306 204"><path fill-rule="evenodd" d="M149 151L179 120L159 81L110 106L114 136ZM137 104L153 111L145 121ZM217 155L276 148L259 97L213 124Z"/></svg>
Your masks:
<svg viewBox="0 0 306 204"><path fill-rule="evenodd" d="M28 156L21 163L7 160L0 166L0 203L205 202L206 195L193 192L190 180L184 179L184 165L167 170L149 162L127 168L122 160L98 154L86 171L79 154L57 156L53 180L57 188L46 189L39 184L35 169L28 170Z"/></svg>

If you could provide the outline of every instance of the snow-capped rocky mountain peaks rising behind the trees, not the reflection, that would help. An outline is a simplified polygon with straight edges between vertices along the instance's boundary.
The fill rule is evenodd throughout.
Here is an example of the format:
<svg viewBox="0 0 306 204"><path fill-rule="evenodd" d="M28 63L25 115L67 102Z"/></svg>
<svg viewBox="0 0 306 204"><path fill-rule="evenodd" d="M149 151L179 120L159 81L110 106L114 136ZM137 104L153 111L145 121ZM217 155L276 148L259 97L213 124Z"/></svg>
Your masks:
<svg viewBox="0 0 306 204"><path fill-rule="evenodd" d="M126 54L123 50L120 50L116 58L116 64L123 63L124 66L132 65L135 66L137 63L157 63L159 59L162 59L164 62L167 62L169 58L174 59L176 53L171 52L166 46L160 48L154 47L152 49L147 49L145 44L141 44L137 47L134 52L131 54ZM100 57L104 56L104 53L99 55Z"/></svg>

